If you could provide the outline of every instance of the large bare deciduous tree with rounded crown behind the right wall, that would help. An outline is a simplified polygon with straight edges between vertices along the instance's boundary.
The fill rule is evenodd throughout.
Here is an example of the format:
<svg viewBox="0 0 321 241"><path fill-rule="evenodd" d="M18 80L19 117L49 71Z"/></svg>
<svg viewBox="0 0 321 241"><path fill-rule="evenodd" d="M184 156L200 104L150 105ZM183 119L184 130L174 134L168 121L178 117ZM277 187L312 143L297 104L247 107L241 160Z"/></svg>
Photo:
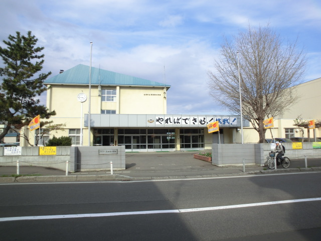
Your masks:
<svg viewBox="0 0 321 241"><path fill-rule="evenodd" d="M233 40L225 39L215 71L209 71L210 94L214 100L234 114L240 114L238 58L242 113L259 134L263 143L263 121L281 115L297 100L294 85L301 81L305 54L297 42L280 38L269 25L239 32Z"/></svg>

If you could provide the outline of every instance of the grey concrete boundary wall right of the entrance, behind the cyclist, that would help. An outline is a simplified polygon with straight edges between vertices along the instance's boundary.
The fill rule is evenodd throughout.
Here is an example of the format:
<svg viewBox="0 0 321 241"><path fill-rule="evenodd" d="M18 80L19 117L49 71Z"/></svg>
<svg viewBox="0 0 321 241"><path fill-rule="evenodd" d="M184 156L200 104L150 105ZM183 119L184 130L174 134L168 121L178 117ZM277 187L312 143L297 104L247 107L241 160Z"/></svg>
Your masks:
<svg viewBox="0 0 321 241"><path fill-rule="evenodd" d="M292 149L292 143L282 143L285 156L290 159L321 158L321 149L313 149L312 143L302 143L302 149ZM266 166L271 144L212 144L212 164L216 166Z"/></svg>

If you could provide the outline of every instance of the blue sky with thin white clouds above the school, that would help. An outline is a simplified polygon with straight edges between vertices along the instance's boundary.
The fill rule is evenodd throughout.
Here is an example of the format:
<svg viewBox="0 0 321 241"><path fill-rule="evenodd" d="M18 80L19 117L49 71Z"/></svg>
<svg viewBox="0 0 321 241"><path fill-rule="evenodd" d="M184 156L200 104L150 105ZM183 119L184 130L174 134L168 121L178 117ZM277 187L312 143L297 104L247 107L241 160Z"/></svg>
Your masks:
<svg viewBox="0 0 321 241"><path fill-rule="evenodd" d="M163 83L165 66L169 114L225 113L209 95L207 72L223 37L248 25L298 38L307 56L302 81L321 77L319 0L2 0L0 16L1 40L29 30L39 39L51 77L90 65L90 42L93 67Z"/></svg>

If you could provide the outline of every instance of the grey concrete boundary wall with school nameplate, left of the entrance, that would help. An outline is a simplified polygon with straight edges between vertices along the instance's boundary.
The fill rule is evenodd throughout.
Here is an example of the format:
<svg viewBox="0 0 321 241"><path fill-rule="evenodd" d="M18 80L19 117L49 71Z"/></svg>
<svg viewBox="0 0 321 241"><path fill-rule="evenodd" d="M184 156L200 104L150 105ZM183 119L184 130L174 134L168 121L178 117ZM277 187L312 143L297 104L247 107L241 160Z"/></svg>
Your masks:
<svg viewBox="0 0 321 241"><path fill-rule="evenodd" d="M39 155L39 147L22 147L21 155L5 156L4 147L0 147L0 166L40 166L68 171L84 170L110 170L110 162L113 169L125 169L125 147L57 147L56 155ZM100 153L103 154L99 154ZM108 151L113 154L108 154ZM105 154L104 154L105 153ZM114 154L117 153L117 154Z"/></svg>

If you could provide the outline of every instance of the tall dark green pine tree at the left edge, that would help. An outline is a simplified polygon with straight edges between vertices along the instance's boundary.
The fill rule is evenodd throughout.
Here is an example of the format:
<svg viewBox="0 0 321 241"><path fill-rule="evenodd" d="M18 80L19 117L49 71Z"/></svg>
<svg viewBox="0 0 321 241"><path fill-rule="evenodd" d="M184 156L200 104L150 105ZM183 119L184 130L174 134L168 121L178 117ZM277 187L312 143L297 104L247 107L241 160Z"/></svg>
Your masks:
<svg viewBox="0 0 321 241"><path fill-rule="evenodd" d="M40 105L37 98L47 90L43 82L51 74L37 74L43 68L44 54L40 52L44 47L36 47L38 39L31 31L27 36L20 32L16 34L9 35L9 40L3 41L7 48L0 47L0 56L5 65L0 68L0 76L3 76L0 83L0 122L7 125L0 134L0 140L11 128L28 125L38 114L47 119L56 114Z"/></svg>

